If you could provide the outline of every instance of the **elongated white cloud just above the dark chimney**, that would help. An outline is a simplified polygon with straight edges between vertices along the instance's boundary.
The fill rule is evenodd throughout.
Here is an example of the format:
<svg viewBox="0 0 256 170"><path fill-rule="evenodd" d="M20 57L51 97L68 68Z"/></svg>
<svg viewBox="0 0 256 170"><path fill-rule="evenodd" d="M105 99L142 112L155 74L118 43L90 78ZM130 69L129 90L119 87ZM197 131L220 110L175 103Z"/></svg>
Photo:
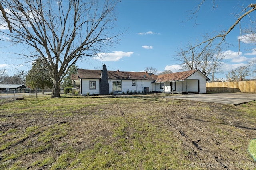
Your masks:
<svg viewBox="0 0 256 170"><path fill-rule="evenodd" d="M119 61L123 57L130 57L133 52L113 51L113 53L98 53L96 59L101 61Z"/></svg>

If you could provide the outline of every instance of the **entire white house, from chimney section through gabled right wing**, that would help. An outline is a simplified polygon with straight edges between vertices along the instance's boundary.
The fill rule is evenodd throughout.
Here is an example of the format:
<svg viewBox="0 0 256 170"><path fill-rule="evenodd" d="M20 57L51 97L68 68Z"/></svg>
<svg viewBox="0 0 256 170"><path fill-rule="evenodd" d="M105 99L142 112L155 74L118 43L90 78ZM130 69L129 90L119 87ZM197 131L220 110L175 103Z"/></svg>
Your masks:
<svg viewBox="0 0 256 170"><path fill-rule="evenodd" d="M155 75L148 72L108 71L78 69L71 76L80 94L121 94L127 92L206 93L206 80L200 70Z"/></svg>

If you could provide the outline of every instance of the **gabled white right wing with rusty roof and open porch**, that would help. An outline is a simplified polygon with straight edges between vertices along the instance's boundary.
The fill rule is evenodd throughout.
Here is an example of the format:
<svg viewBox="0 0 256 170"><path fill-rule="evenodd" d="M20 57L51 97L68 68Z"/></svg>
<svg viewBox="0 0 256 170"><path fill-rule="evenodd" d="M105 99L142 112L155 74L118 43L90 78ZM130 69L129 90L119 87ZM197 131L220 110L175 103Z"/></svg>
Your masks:
<svg viewBox="0 0 256 170"><path fill-rule="evenodd" d="M154 91L164 93L206 93L209 79L200 70L190 70L159 75Z"/></svg>

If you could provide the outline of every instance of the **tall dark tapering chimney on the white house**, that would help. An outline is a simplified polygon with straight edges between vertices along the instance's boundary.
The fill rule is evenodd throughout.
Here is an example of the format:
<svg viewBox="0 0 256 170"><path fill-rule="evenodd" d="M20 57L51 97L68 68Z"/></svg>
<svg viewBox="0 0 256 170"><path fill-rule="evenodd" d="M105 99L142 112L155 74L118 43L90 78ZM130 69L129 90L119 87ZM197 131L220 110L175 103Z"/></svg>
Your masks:
<svg viewBox="0 0 256 170"><path fill-rule="evenodd" d="M109 94L109 84L108 84L108 71L107 66L103 64L101 80L100 80L100 94Z"/></svg>

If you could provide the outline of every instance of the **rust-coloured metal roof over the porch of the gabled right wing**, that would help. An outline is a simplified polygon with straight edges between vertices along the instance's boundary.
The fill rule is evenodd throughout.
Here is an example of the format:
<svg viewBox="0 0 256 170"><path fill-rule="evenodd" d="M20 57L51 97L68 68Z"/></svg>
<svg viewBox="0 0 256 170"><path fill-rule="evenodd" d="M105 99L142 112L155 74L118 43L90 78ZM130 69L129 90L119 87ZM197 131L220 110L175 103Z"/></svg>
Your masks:
<svg viewBox="0 0 256 170"><path fill-rule="evenodd" d="M156 83L186 80L189 76L191 76L197 71L200 71L200 70L190 70L190 71L182 71L182 72L159 75L157 77Z"/></svg>

